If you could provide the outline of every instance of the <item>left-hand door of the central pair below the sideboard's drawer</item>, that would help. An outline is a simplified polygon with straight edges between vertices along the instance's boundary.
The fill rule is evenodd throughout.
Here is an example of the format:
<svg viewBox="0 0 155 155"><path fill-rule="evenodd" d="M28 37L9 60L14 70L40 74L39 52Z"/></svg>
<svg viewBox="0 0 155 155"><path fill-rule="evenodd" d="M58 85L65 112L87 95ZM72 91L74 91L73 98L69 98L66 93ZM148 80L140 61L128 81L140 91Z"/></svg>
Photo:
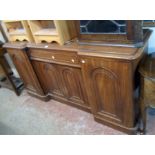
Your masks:
<svg viewBox="0 0 155 155"><path fill-rule="evenodd" d="M58 66L35 60L32 63L45 93L64 97L64 87L62 86Z"/></svg>

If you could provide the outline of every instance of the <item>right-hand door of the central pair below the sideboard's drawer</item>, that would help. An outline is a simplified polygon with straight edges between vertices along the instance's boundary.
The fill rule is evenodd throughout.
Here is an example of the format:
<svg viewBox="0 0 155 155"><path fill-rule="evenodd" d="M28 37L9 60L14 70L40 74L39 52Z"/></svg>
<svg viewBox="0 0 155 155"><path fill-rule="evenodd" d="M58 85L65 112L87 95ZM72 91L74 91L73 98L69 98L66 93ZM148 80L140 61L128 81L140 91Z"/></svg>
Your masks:
<svg viewBox="0 0 155 155"><path fill-rule="evenodd" d="M66 88L66 97L69 101L88 107L87 95L80 68L59 66L59 72Z"/></svg>

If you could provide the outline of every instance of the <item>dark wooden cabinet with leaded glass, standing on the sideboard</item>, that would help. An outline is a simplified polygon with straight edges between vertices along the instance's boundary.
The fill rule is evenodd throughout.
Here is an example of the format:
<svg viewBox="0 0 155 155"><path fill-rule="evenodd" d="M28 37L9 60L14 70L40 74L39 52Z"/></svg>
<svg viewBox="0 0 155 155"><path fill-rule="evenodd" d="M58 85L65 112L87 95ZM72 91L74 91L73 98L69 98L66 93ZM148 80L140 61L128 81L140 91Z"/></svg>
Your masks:
<svg viewBox="0 0 155 155"><path fill-rule="evenodd" d="M76 28L80 43L142 46L142 24L141 20L80 20Z"/></svg>

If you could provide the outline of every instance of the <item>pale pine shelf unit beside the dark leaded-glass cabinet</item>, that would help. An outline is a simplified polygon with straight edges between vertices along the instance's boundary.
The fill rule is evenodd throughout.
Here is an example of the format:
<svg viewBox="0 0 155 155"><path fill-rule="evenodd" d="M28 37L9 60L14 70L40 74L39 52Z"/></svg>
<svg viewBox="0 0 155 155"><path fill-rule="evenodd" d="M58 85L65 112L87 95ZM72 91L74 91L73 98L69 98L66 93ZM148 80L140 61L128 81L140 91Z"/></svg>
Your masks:
<svg viewBox="0 0 155 155"><path fill-rule="evenodd" d="M29 20L28 23L36 43L56 42L63 45L76 35L72 21Z"/></svg>

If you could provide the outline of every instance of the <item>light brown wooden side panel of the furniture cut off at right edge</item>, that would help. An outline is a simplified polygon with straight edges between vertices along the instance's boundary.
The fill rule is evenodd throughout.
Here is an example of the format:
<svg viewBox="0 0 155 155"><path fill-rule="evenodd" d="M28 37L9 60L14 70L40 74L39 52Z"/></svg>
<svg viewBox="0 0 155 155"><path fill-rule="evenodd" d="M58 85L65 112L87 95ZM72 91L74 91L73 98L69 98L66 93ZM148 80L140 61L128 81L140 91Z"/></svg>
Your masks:
<svg viewBox="0 0 155 155"><path fill-rule="evenodd" d="M155 81L145 78L144 98L146 99L147 104L155 107Z"/></svg>

